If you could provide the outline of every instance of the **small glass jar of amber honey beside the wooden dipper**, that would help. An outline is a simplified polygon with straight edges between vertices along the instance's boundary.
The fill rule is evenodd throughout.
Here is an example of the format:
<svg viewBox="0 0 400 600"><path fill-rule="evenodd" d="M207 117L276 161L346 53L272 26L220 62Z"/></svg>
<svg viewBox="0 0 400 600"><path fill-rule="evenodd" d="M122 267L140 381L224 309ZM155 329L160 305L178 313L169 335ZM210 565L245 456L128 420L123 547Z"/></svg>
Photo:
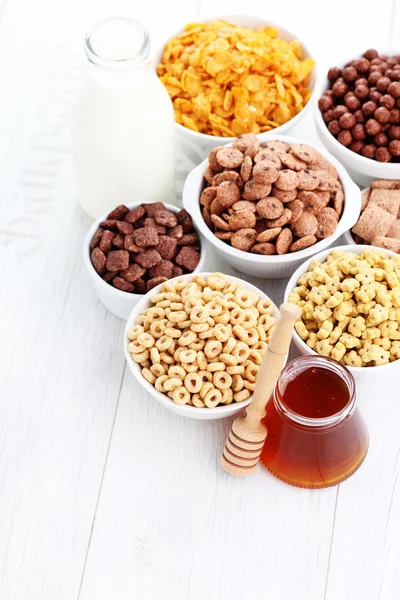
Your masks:
<svg viewBox="0 0 400 600"><path fill-rule="evenodd" d="M369 436L356 407L355 382L340 363L302 356L283 369L263 420L261 462L302 488L336 485L363 462Z"/></svg>

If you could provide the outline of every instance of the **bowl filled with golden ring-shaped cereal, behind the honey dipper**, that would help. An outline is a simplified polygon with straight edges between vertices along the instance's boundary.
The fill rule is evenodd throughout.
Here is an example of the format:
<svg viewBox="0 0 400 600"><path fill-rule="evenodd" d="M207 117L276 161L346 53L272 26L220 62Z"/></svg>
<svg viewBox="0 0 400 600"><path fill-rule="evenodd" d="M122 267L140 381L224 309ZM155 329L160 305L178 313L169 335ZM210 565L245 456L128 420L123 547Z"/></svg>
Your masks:
<svg viewBox="0 0 400 600"><path fill-rule="evenodd" d="M137 382L193 419L231 416L252 399L279 311L261 290L223 273L188 274L134 307L124 352Z"/></svg>

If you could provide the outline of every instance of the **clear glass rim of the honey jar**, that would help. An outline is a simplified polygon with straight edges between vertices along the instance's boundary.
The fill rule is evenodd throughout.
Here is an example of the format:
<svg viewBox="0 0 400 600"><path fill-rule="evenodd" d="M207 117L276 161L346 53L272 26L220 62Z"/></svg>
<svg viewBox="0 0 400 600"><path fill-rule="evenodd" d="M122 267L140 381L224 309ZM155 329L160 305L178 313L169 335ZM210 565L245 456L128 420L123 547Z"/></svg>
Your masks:
<svg viewBox="0 0 400 600"><path fill-rule="evenodd" d="M323 367L336 373L339 377L341 377L341 379L343 379L349 390L349 400L346 403L346 405L343 408L341 408L337 413L330 415L329 417L305 417L294 412L291 408L289 408L283 399L284 390L282 390L282 386L285 385L288 381L293 380L293 378L296 375L302 373L306 368L313 366ZM355 391L356 385L354 377L345 365L342 365L338 361L332 358L327 358L325 356L300 356L291 360L282 370L274 389L273 401L277 411L280 414L282 414L286 419L304 427L311 427L313 429L325 429L339 425L339 423L344 421L354 412L356 406Z"/></svg>

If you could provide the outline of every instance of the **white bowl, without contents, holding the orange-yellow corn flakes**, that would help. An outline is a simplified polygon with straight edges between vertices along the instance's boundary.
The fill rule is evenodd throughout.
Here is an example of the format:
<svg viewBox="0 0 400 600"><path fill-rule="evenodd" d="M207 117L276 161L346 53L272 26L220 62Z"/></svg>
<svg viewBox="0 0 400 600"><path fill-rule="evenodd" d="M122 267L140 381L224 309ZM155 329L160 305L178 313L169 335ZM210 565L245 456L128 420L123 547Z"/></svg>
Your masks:
<svg viewBox="0 0 400 600"><path fill-rule="evenodd" d="M303 40L301 40L299 38L299 36L288 31L281 25L278 25L277 23L273 23L273 22L263 19L261 17L250 16L250 15L223 15L223 16L218 15L215 17L210 17L209 19L201 19L201 21L202 22L210 22L210 21L218 21L220 19L223 19L224 21L227 21L228 23L233 23L235 25L242 25L244 27L252 27L252 28L268 27L268 26L275 27L276 29L278 29L278 32L279 32L278 36L280 38L289 40L289 41L290 40L298 40L301 43L301 47L303 49L303 57L302 57L303 59L313 58L315 56L315 54L310 52L308 44L307 45L304 44ZM157 52L154 53L153 64L155 66L158 65L161 61L165 43L168 40L170 40L171 38L173 38L176 35L178 35L179 33L181 33L182 31L183 31L183 26L180 27L178 29L178 31L175 31L175 32L169 34L168 38L165 40L162 47L159 48L157 50ZM272 131L260 133L258 135L260 142L265 141L268 138L270 138L271 134L275 134L275 133L282 134L287 131L290 131L295 125L297 125L300 122L301 119L303 119L303 117L306 115L306 113L308 112L308 110L311 106L311 102L312 102L314 94L315 94L316 81L317 81L317 72L316 72L316 67L314 66L314 69L313 69L313 71L308 79L308 83L307 83L308 88L311 90L311 97L310 97L309 101L307 102L306 106L303 108L303 110L301 112L299 112L299 114L297 114L295 117L293 117L293 119L290 119L290 121L288 121L287 123L284 123L280 127L273 129ZM228 142L233 141L233 139L234 139L232 137L220 137L220 136L215 136L215 135L207 135L205 133L198 133L196 131L192 131L191 129L188 129L187 127L184 127L183 125L180 125L179 123L176 123L176 129L177 129L178 135L183 137L184 139L186 139L186 141L192 142L192 143L200 146L201 148L208 149L208 150L210 150L214 146L222 146Z"/></svg>

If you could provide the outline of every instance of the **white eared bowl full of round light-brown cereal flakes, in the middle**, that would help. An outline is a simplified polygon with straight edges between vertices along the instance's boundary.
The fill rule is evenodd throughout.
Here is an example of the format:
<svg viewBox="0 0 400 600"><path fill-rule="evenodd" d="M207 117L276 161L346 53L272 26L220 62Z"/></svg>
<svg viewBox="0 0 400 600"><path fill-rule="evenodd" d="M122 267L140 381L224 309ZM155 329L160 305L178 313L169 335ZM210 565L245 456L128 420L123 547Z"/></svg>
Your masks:
<svg viewBox="0 0 400 600"><path fill-rule="evenodd" d="M322 147L254 134L213 148L185 182L183 205L200 233L234 268L291 275L355 225L361 192Z"/></svg>

